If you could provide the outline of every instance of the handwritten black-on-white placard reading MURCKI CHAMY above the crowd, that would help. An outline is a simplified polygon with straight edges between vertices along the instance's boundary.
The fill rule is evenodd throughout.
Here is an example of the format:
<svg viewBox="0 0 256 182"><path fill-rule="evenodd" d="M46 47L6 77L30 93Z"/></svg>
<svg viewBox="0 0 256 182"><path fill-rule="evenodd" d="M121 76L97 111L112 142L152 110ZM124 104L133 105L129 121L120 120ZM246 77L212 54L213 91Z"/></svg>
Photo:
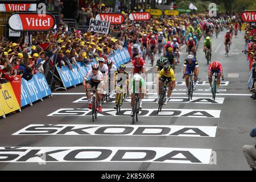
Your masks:
<svg viewBox="0 0 256 182"><path fill-rule="evenodd" d="M98 19L90 19L89 31L101 34L109 34L110 22Z"/></svg>

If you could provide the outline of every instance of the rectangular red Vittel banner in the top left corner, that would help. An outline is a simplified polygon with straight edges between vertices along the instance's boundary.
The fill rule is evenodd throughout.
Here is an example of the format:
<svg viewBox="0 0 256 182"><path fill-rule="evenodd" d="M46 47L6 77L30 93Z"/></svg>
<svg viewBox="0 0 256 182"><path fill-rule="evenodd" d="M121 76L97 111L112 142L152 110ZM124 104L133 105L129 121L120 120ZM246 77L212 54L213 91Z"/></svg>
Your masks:
<svg viewBox="0 0 256 182"><path fill-rule="evenodd" d="M13 12L13 11L36 11L36 4L31 4L31 3L0 4L0 12Z"/></svg>

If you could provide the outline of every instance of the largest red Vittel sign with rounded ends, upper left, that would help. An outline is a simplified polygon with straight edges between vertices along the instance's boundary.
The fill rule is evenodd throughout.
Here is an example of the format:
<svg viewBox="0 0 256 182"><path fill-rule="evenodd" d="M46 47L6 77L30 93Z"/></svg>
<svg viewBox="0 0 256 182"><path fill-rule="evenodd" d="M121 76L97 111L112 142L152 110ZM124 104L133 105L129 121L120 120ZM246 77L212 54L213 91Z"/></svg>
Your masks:
<svg viewBox="0 0 256 182"><path fill-rule="evenodd" d="M55 18L49 13L13 13L8 24L13 31L49 31L55 26Z"/></svg>

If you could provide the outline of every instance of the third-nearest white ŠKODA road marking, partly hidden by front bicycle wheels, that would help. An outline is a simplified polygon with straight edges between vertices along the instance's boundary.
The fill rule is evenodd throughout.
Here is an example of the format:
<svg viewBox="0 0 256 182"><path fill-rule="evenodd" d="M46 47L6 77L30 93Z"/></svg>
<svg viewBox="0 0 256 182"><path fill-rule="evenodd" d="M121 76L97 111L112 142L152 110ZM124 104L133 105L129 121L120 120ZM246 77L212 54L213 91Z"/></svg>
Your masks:
<svg viewBox="0 0 256 182"><path fill-rule="evenodd" d="M115 109L102 109L98 113L101 116L115 116L115 117L130 117L131 109L122 109L118 115L115 115ZM199 109L162 109L158 113L157 109L143 109L139 111L140 117L192 117L192 118L220 118L221 110L199 110ZM92 117L92 110L86 108L65 108L58 109L47 116L90 116Z"/></svg>

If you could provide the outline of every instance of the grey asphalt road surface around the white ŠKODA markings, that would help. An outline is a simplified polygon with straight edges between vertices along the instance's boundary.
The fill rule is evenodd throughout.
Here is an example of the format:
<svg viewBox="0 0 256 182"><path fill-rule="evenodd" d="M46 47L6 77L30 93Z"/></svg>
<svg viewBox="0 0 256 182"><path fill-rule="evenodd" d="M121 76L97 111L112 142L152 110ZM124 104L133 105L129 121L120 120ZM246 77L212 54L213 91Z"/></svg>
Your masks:
<svg viewBox="0 0 256 182"><path fill-rule="evenodd" d="M224 32L218 39L212 38L212 60L221 61L225 81L229 81L224 95L223 104L194 104L194 103L168 103L164 109L190 109L190 110L221 110L220 118L196 117L143 117L139 116L136 125L181 125L181 126L217 126L215 137L172 137L172 136L120 136L120 135L12 135L32 124L59 124L59 125L127 125L131 126L131 117L100 116L96 122L88 116L47 116L62 108L86 108L87 103L73 103L85 95L70 94L56 95L38 101L33 106L26 106L22 112L0 119L0 147L174 147L174 148L210 148L213 154L213 164L184 164L162 162L51 162L39 163L10 163L0 162L0 170L250 170L242 153L242 146L253 145L255 139L249 133L256 124L256 102L250 96L236 96L225 94L251 94L247 89L249 71L246 56L241 53L244 49L244 32L238 32L233 38L229 57L224 50ZM219 46L220 45L220 46ZM200 42L197 51L197 60L200 65L200 81L207 81L208 66L203 53L203 43ZM187 56L183 48L181 63L176 68L176 81L182 79L183 60ZM148 63L148 61L147 61ZM152 72L150 69L148 72ZM238 73L239 77L228 77L230 73ZM184 89L185 86L176 86ZM208 86L197 86L197 89L208 89ZM82 93L82 86L69 88L67 91L57 93ZM56 93L56 92L53 92ZM184 91L175 91L172 97L186 97ZM194 97L210 97L210 92L196 91ZM104 109L112 109L113 103L104 104ZM123 109L129 109L130 104L123 104ZM157 109L156 103L143 103L143 109Z"/></svg>

